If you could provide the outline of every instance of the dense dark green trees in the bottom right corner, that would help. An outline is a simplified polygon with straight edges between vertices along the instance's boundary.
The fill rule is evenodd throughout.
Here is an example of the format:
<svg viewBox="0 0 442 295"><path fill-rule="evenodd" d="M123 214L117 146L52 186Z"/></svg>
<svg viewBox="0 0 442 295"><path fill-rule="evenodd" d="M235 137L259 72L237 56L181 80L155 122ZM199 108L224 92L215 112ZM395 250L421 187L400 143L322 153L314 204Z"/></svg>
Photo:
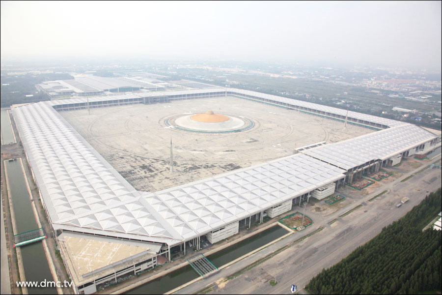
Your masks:
<svg viewBox="0 0 442 295"><path fill-rule="evenodd" d="M441 290L442 231L422 229L441 210L441 188L347 258L311 279L312 294L416 294Z"/></svg>

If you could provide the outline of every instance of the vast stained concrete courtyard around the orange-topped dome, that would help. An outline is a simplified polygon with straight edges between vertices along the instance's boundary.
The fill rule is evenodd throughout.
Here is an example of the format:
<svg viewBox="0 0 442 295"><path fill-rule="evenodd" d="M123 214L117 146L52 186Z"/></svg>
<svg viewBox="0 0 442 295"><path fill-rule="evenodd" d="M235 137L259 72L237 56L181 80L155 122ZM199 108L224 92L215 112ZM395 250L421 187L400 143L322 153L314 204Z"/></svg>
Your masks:
<svg viewBox="0 0 442 295"><path fill-rule="evenodd" d="M247 117L255 125L227 134L166 128L168 117L207 110ZM341 121L234 97L98 108L90 115L87 110L60 114L136 189L150 192L291 155L308 144L374 132L350 124L344 129Z"/></svg>

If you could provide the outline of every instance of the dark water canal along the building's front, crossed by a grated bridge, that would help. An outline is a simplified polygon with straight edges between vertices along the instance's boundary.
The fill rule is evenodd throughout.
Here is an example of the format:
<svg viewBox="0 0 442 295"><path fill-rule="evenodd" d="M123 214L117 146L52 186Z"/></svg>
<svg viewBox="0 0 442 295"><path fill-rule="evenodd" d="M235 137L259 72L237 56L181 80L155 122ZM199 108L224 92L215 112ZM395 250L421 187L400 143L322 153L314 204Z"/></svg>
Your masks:
<svg viewBox="0 0 442 295"><path fill-rule="evenodd" d="M245 240L242 240L230 247L207 256L216 267L223 266L273 240L284 236L288 231L276 225ZM152 280L144 285L132 289L125 294L164 294L189 281L199 277L199 274L192 266L184 266L172 271L161 278Z"/></svg>

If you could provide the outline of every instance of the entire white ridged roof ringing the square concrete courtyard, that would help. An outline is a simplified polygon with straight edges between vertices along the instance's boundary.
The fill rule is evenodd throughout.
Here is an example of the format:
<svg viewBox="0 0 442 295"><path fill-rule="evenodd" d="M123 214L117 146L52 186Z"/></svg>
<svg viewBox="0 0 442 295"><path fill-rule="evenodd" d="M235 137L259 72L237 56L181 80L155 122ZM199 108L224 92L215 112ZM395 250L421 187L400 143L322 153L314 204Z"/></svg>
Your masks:
<svg viewBox="0 0 442 295"><path fill-rule="evenodd" d="M245 92L228 89L233 90L238 94ZM147 94L159 96L219 91L225 89ZM267 97L267 94L258 92L247 93ZM140 97L127 94L94 97L89 101ZM293 104L293 100L286 98L268 97ZM324 161L333 164L332 160L337 163L347 158L350 161L347 166L333 165L350 167L365 163L370 157L389 157L404 148L432 139L429 132L419 127L397 122L403 126L306 150L305 153L311 153L311 156L296 154L156 193L146 193L136 191L53 108L85 101L86 98L45 101L12 110L54 229L166 242L169 245L205 234L344 177L344 170ZM368 116L355 114L360 118ZM399 125L393 120L367 118Z"/></svg>

